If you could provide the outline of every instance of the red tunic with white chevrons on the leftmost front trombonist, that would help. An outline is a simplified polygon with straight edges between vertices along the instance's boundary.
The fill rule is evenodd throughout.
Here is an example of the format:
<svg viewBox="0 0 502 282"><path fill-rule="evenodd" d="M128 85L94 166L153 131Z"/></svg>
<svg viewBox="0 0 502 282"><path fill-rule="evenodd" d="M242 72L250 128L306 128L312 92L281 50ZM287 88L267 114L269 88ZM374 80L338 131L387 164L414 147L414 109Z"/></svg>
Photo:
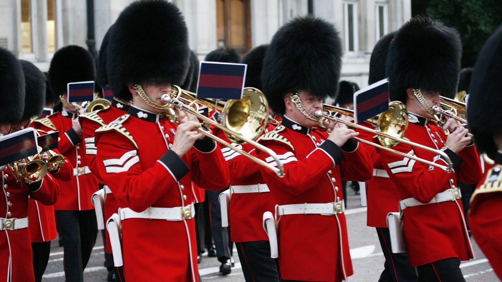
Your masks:
<svg viewBox="0 0 502 282"><path fill-rule="evenodd" d="M216 144L200 140L197 148L207 153L194 147L180 159L169 150L175 130L167 119L134 106L96 130L99 175L120 208L187 206L194 201L192 181L212 190L228 186L228 168ZM193 218L122 220L122 252L126 280L198 280Z"/></svg>

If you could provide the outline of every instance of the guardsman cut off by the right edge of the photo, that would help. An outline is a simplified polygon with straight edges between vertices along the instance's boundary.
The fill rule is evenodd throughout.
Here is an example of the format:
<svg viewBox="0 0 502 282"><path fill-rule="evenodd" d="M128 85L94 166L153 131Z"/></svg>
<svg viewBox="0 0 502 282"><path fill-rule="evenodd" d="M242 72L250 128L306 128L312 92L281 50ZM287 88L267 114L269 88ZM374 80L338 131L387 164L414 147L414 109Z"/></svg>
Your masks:
<svg viewBox="0 0 502 282"><path fill-rule="evenodd" d="M502 26L486 41L477 57L467 100L467 123L479 153L495 161L471 198L469 225L472 236L502 279Z"/></svg>

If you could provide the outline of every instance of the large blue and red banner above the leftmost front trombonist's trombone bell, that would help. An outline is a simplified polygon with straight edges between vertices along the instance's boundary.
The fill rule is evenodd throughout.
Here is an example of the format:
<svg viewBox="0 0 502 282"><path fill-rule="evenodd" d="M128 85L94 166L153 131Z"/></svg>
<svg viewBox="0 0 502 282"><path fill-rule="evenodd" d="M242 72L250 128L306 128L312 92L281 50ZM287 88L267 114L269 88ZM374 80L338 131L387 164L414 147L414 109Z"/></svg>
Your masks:
<svg viewBox="0 0 502 282"><path fill-rule="evenodd" d="M197 98L240 99L247 65L200 63Z"/></svg>

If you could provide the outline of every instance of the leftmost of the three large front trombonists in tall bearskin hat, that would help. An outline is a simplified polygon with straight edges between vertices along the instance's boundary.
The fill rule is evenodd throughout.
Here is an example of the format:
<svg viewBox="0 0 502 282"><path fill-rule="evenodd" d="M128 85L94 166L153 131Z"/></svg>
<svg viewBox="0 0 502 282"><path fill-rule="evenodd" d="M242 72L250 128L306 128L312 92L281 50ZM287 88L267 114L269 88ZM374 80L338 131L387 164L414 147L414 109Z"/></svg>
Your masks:
<svg viewBox="0 0 502 282"><path fill-rule="evenodd" d="M127 114L95 131L99 176L120 207L124 277L198 281L192 181L220 190L228 168L214 140L194 131L194 116L180 112L176 125L161 115L163 95L189 64L181 12L166 1L134 2L113 24L106 61L111 90L132 100Z"/></svg>

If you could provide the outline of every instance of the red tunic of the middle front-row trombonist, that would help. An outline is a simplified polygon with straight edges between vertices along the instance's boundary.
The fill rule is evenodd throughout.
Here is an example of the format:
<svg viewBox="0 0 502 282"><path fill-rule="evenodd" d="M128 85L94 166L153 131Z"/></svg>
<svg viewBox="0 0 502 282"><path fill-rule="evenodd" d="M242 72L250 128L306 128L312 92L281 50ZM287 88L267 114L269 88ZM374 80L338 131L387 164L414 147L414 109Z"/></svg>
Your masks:
<svg viewBox="0 0 502 282"><path fill-rule="evenodd" d="M261 137L260 143L276 152L284 165L284 178L261 168L277 204L337 202L343 200L342 179L371 178L371 162L363 147L350 142L352 152L343 152L327 137L325 131L306 128L286 116L282 125ZM266 154L258 156L275 163ZM339 281L353 274L343 213L293 214L278 220L281 278Z"/></svg>

